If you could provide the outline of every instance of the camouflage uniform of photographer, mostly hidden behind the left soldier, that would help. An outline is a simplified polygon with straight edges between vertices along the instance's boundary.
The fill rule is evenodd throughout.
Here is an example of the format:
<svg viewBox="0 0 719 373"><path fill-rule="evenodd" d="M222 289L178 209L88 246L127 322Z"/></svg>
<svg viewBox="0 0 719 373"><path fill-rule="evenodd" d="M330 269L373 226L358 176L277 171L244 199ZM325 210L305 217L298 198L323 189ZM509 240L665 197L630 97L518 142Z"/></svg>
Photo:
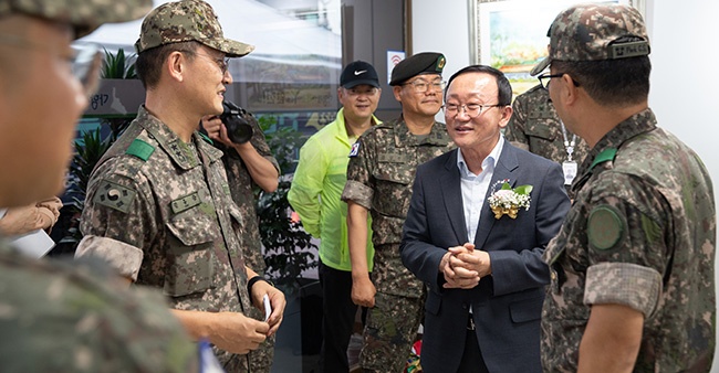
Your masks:
<svg viewBox="0 0 719 373"><path fill-rule="evenodd" d="M272 157L270 147L264 140L264 134L260 128L257 118L251 113L246 110L241 111L242 118L252 126L252 138L250 143L257 149L260 156L272 162L274 168L280 171L280 164L277 159ZM267 264L262 255L262 239L260 237L260 227L258 225L257 216L257 198L254 190L257 184L250 175L244 161L237 153L237 150L228 148L221 142L215 142L215 146L225 152L222 162L227 171L227 179L230 186L230 194L232 200L240 207L240 214L243 220L243 227L240 231L240 239L242 242L242 255L244 263L248 267L252 268L258 275L264 275ZM264 311L260 311L254 307L250 307L248 312L250 317L256 320L264 320ZM268 338L260 344L260 347L250 354L250 367L252 372L270 372L272 366L272 359L274 356L274 334Z"/></svg>

